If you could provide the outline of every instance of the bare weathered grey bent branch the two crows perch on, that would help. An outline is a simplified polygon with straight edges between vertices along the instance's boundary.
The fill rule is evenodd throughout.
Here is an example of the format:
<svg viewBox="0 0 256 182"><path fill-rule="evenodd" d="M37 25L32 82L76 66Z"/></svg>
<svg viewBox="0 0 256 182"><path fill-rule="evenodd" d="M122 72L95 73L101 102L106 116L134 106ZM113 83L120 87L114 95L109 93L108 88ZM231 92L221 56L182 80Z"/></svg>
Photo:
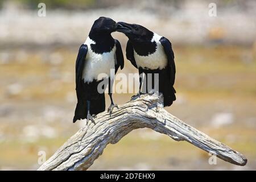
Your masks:
<svg viewBox="0 0 256 182"><path fill-rule="evenodd" d="M97 115L96 125L89 123L67 140L38 170L86 170L109 143L117 143L130 131L148 127L176 141L185 140L226 162L245 166L245 156L223 143L187 125L163 109L163 97L144 94L120 105L112 115Z"/></svg>

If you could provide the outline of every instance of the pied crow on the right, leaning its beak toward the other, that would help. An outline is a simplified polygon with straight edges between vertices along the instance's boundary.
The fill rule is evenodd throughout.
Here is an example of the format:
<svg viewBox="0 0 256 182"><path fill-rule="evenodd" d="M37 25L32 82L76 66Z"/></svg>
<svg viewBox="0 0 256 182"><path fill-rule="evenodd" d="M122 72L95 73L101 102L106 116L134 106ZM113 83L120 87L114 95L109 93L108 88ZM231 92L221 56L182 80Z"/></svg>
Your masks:
<svg viewBox="0 0 256 182"><path fill-rule="evenodd" d="M139 24L118 22L116 31L122 32L129 38L126 46L126 57L135 68L139 69L139 75L145 73L146 88L148 88L148 82L151 82L154 89L156 85L154 74L158 73L158 91L163 94L164 106L172 105L172 102L176 100L174 89L176 69L171 42ZM148 73L151 73L152 77L149 77ZM141 77L139 82L137 95L141 94ZM148 92L151 90L146 89L146 93Z"/></svg>

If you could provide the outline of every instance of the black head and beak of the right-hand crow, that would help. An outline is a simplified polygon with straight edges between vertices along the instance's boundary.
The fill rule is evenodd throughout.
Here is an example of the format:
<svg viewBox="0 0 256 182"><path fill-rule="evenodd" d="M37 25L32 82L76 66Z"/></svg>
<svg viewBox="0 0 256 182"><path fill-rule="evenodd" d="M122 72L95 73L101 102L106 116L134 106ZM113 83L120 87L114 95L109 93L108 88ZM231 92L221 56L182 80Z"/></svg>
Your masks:
<svg viewBox="0 0 256 182"><path fill-rule="evenodd" d="M122 32L132 42L151 41L154 33L139 24L129 24L125 22L117 22L115 31Z"/></svg>

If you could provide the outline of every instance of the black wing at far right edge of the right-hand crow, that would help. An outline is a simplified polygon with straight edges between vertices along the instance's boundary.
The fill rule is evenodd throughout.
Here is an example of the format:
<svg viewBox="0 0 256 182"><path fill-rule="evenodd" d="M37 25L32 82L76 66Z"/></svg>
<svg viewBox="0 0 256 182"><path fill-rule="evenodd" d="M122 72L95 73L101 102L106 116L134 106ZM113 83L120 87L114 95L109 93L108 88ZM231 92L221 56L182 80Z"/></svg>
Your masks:
<svg viewBox="0 0 256 182"><path fill-rule="evenodd" d="M171 68L171 84L174 85L176 68L174 62L174 51L172 51L172 44L168 39L164 37L160 39L160 43L164 47L164 52L166 53L168 59L168 66Z"/></svg>

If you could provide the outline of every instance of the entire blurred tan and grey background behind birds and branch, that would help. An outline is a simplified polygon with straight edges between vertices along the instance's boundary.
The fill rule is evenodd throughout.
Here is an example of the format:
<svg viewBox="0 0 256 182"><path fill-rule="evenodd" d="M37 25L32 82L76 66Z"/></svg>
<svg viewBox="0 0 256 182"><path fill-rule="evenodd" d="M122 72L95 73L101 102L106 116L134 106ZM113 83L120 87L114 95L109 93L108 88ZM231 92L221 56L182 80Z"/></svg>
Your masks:
<svg viewBox="0 0 256 182"><path fill-rule="evenodd" d="M46 16L38 14L40 2ZM39 151L48 159L85 125L72 123L75 60L99 16L142 24L171 40L177 100L166 109L248 163L210 165L207 152L139 129L109 144L89 169L256 169L256 1L1 0L0 9L0 169L37 169ZM127 38L113 36L125 51ZM122 72L137 70L125 60ZM123 104L131 96L113 98Z"/></svg>

